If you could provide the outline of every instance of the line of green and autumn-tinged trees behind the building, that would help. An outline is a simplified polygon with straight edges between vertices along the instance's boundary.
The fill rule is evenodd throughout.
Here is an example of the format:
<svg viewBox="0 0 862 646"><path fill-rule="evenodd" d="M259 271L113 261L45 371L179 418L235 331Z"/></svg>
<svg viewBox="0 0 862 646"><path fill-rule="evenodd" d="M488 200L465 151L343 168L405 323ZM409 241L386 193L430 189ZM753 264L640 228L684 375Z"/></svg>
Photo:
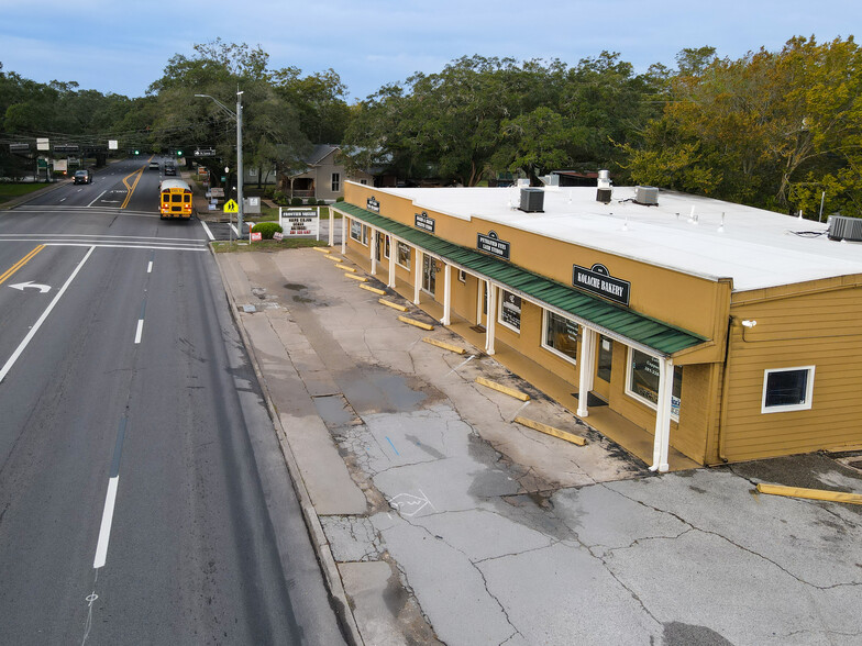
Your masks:
<svg viewBox="0 0 862 646"><path fill-rule="evenodd" d="M264 171L300 172L313 144L331 143L349 168L407 180L477 186L517 174L538 182L551 170L608 168L618 185L808 216L825 201L827 212L862 216L862 52L852 36L794 37L738 59L687 48L675 68L642 74L609 52L572 65L465 56L353 104L335 70L273 68L259 46L221 40L173 56L133 99L37 83L0 65L0 143L213 146L218 157L202 160L219 167L235 157L237 90L244 162Z"/></svg>

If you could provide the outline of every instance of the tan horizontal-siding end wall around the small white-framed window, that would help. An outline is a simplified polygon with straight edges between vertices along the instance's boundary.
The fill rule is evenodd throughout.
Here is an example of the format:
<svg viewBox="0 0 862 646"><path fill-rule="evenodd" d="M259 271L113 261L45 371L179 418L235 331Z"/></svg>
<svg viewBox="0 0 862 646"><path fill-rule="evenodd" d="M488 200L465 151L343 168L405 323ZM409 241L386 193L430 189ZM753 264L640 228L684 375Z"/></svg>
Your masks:
<svg viewBox="0 0 862 646"><path fill-rule="evenodd" d="M769 294L764 294L769 298ZM738 299L722 444L731 461L862 444L862 287ZM810 410L762 413L764 370L815 366Z"/></svg>

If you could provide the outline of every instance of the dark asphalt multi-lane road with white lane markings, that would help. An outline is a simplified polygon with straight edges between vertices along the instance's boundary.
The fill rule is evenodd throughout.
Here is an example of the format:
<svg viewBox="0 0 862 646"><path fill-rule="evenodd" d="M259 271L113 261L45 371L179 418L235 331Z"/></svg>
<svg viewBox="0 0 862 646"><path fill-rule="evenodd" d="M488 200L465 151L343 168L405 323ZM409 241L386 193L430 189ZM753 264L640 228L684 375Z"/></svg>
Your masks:
<svg viewBox="0 0 862 646"><path fill-rule="evenodd" d="M0 643L342 641L197 222L148 158L0 213Z"/></svg>

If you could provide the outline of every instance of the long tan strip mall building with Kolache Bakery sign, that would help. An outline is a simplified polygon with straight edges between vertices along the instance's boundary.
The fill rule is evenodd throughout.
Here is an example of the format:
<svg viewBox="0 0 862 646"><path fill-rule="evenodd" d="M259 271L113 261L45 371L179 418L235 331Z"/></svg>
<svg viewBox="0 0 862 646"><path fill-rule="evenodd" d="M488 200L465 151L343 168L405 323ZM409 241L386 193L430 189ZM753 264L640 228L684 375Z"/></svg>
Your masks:
<svg viewBox="0 0 862 646"><path fill-rule="evenodd" d="M653 470L861 448L862 245L636 196L349 182L333 208L343 253Z"/></svg>

